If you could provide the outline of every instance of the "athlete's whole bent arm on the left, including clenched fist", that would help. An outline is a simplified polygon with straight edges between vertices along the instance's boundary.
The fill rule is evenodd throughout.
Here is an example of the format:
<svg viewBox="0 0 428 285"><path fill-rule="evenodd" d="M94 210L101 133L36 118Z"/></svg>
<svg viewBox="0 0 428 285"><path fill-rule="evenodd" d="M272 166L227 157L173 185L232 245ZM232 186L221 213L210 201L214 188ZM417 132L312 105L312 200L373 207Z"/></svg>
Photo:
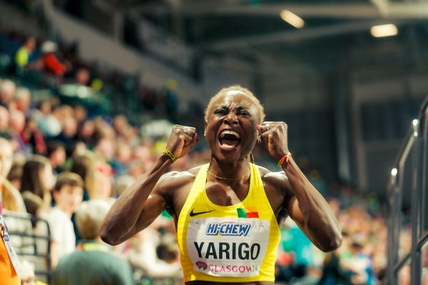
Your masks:
<svg viewBox="0 0 428 285"><path fill-rule="evenodd" d="M180 158L197 141L195 128L174 125L166 149L173 157ZM163 175L170 164L168 156L161 155L141 178L121 194L101 225L100 234L104 242L120 244L147 227L161 214L170 202L174 188L180 187L179 182L170 179L173 173Z"/></svg>

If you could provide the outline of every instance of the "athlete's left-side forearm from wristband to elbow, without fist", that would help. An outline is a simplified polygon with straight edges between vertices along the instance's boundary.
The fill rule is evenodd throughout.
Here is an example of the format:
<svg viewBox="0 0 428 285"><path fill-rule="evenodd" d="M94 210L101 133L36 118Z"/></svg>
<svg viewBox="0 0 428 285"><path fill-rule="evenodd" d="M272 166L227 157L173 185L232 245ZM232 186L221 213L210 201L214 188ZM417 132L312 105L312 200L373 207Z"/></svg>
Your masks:
<svg viewBox="0 0 428 285"><path fill-rule="evenodd" d="M170 163L166 155L161 155L144 175L118 197L104 218L100 229L101 239L104 242L108 244L123 242L136 227L138 219L145 218L141 217L141 214L145 209L148 196ZM156 213L152 214L154 216ZM146 217L148 220L151 218L154 217Z"/></svg>

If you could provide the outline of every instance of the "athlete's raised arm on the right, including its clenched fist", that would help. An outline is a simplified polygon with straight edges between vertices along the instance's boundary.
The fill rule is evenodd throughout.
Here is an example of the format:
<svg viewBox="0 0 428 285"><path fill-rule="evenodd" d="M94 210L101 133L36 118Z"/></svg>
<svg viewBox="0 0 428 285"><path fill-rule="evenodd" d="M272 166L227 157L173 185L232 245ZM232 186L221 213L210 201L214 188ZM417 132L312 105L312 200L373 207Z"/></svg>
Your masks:
<svg viewBox="0 0 428 285"><path fill-rule="evenodd" d="M264 122L257 128L265 141L267 151L276 161L280 161L289 153L286 123ZM279 187L286 192L285 204L282 207L287 209L300 229L323 252L340 247L342 233L324 197L310 184L292 158L288 163L282 163L282 170L285 175L280 180L282 182Z"/></svg>

